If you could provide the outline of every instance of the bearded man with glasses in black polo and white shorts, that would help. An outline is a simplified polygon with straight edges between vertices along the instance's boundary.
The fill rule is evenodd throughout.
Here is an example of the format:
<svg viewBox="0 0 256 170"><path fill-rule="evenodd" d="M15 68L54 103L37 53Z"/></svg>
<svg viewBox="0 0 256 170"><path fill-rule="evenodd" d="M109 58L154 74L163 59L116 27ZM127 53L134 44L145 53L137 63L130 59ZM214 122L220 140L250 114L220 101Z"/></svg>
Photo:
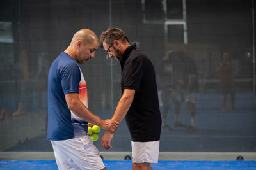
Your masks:
<svg viewBox="0 0 256 170"><path fill-rule="evenodd" d="M125 117L132 140L133 169L152 169L149 163L158 162L162 122L154 66L135 43L130 45L121 29L102 32L100 45L110 58L120 61L122 69L122 97L112 119L120 123ZM111 148L112 138L113 132L106 130L102 147Z"/></svg>

